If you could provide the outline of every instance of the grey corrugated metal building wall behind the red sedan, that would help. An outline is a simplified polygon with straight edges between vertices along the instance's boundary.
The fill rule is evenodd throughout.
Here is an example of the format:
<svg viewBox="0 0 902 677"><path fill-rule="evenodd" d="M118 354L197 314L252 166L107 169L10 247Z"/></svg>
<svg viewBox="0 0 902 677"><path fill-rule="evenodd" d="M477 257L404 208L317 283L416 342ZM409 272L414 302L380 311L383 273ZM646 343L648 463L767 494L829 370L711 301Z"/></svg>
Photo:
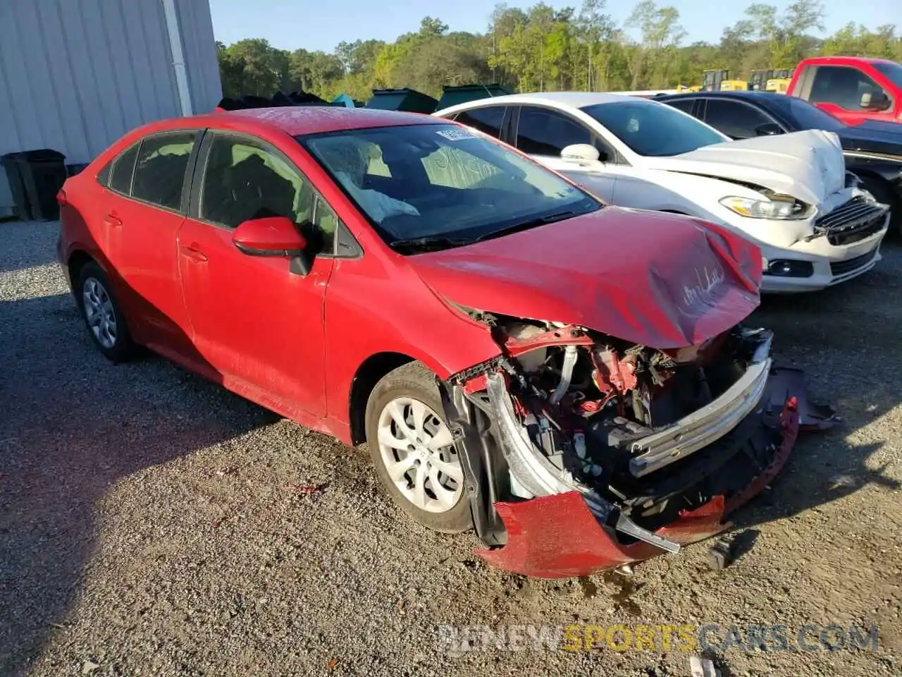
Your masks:
<svg viewBox="0 0 902 677"><path fill-rule="evenodd" d="M176 0L191 107L222 97L207 0ZM0 154L89 162L130 129L179 116L161 0L0 0ZM12 204L0 170L0 209Z"/></svg>

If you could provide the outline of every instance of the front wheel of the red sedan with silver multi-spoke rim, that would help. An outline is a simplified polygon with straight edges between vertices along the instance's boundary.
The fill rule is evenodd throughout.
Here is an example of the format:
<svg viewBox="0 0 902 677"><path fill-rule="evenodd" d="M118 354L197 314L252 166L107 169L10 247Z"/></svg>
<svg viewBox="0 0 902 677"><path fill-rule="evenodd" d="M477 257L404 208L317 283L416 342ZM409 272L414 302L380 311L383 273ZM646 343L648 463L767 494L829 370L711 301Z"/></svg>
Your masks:
<svg viewBox="0 0 902 677"><path fill-rule="evenodd" d="M410 362L373 388L366 442L382 485L414 520L438 532L473 526L464 468L442 412L436 377Z"/></svg>

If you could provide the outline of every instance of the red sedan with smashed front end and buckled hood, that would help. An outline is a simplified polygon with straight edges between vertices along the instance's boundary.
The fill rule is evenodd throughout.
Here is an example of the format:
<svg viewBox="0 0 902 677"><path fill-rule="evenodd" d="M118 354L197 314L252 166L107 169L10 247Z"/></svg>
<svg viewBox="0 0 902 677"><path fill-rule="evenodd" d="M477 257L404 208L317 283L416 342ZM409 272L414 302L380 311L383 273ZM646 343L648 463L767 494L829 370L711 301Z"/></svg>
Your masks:
<svg viewBox="0 0 902 677"><path fill-rule="evenodd" d="M366 441L413 519L583 575L679 549L777 474L809 411L758 249L604 206L429 116L167 120L60 190L60 264L114 362L151 348Z"/></svg>

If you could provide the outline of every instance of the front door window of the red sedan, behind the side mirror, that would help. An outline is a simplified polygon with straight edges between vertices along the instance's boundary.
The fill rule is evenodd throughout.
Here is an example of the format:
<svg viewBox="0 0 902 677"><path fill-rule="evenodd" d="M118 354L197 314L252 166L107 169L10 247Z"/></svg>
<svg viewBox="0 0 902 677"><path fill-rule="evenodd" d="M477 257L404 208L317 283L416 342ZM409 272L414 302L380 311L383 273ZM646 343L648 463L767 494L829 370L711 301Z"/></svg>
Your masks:
<svg viewBox="0 0 902 677"><path fill-rule="evenodd" d="M338 227L335 212L281 153L225 134L210 144L199 216L227 228L252 218L290 218L316 251L326 253L334 250Z"/></svg>

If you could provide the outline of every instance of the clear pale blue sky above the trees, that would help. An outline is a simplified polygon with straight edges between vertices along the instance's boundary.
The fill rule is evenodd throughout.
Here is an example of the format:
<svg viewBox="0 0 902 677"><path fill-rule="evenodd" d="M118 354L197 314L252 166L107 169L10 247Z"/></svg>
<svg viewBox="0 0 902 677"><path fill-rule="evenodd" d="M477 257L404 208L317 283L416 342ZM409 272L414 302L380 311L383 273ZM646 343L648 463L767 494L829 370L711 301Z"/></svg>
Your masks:
<svg viewBox="0 0 902 677"><path fill-rule="evenodd" d="M783 10L792 0L758 0ZM556 8L581 5L582 0L546 0ZM755 0L659 0L679 10L686 41L718 42L723 28L736 23ZM216 40L230 44L242 38L265 38L273 47L294 51L333 51L339 42L394 41L419 29L419 20L433 16L452 31L484 32L494 0L209 0ZM511 0L511 7L535 2ZM605 12L623 23L635 3L609 0ZM902 29L902 0L824 0L826 33L849 22L876 28L895 23Z"/></svg>

